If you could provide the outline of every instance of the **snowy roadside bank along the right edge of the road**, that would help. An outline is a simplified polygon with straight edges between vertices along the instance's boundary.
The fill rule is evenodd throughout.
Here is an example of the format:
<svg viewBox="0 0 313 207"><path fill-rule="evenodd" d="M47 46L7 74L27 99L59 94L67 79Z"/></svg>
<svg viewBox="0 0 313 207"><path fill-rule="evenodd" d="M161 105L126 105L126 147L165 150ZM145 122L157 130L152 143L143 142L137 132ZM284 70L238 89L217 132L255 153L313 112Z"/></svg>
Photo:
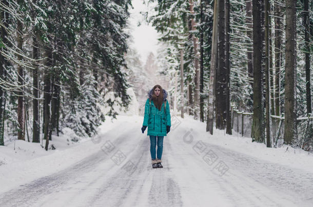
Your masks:
<svg viewBox="0 0 313 207"><path fill-rule="evenodd" d="M211 135L205 131L206 123L195 121L186 114L183 121L179 116L177 119L181 122L179 127L184 129L181 136L189 132L194 140L202 141L204 144L222 146L268 162L313 172L313 154L309 154L307 151L294 149L287 145L283 145L281 148L267 148L263 143L252 143L251 138L242 137L238 134L228 135L225 131L215 128L213 135ZM287 147L288 150L286 151Z"/></svg>

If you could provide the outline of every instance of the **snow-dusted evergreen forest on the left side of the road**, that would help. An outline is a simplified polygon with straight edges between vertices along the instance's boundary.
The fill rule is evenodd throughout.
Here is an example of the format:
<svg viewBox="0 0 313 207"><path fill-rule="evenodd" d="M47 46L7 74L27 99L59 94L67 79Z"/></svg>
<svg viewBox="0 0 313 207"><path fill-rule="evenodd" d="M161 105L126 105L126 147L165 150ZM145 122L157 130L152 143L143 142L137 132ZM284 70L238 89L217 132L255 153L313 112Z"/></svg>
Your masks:
<svg viewBox="0 0 313 207"><path fill-rule="evenodd" d="M39 143L42 137L46 150L51 134L63 127L92 136L104 121L105 93L113 91L124 100L119 104L128 104L123 70L130 6L130 1L1 1L0 145L5 127L18 140Z"/></svg>

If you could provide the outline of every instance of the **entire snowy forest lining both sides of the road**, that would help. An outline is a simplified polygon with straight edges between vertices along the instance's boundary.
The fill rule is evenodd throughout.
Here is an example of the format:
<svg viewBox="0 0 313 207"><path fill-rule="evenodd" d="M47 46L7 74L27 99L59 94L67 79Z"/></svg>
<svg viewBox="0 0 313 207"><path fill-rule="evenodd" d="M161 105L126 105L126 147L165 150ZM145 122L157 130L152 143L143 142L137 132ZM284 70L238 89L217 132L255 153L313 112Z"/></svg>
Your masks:
<svg viewBox="0 0 313 207"><path fill-rule="evenodd" d="M215 127L266 147L313 150L313 1L145 4L143 18L163 45L158 73L174 77L166 89L182 118L206 122L210 134ZM130 0L1 0L0 145L9 134L43 139L48 150L64 127L92 137L105 115L119 114L113 105L129 105L127 88L146 86L148 76L129 58L131 7ZM108 93L116 99L104 99Z"/></svg>

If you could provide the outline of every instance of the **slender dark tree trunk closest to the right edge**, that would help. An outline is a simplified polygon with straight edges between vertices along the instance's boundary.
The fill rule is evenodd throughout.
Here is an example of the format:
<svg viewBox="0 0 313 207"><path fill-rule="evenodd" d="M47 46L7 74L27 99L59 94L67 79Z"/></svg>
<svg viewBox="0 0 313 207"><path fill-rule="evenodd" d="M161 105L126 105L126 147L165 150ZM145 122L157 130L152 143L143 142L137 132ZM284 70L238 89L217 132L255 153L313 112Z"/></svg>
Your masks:
<svg viewBox="0 0 313 207"><path fill-rule="evenodd" d="M305 44L305 82L306 82L306 111L312 113L311 97L311 70L310 70L310 18L309 18L309 1L303 0L303 26L304 26L304 44Z"/></svg>

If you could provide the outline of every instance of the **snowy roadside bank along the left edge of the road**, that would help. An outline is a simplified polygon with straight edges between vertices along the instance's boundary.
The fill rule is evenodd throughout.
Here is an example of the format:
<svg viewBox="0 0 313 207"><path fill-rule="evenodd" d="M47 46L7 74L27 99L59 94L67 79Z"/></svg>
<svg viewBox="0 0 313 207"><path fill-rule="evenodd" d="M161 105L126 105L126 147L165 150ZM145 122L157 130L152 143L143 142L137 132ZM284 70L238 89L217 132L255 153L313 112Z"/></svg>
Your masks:
<svg viewBox="0 0 313 207"><path fill-rule="evenodd" d="M111 122L110 117L106 120L108 121L99 127L94 142L114 128L118 121ZM39 143L21 140L15 141L15 150L13 141L7 146L0 146L0 194L36 178L61 171L100 150L90 137L77 143L71 142L71 133L70 130L65 130L65 134L59 137L52 136L49 147L53 144L55 150L46 151Z"/></svg>

